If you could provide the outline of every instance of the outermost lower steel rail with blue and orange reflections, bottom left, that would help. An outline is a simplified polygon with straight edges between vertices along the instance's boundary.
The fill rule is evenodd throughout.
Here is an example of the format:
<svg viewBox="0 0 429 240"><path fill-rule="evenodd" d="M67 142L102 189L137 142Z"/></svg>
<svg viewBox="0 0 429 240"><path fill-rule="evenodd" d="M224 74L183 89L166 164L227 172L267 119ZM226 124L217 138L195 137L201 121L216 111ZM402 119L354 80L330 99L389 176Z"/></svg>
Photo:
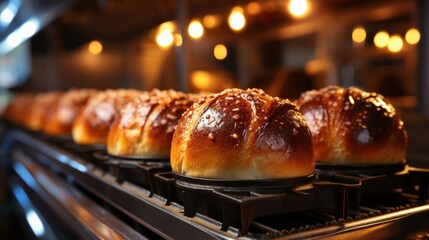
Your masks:
<svg viewBox="0 0 429 240"><path fill-rule="evenodd" d="M24 183L27 191L40 196L58 215L61 215L63 219L66 218L68 227L74 230L72 232L76 233L77 237L82 239L145 239L134 229L67 184L65 180L32 161L20 150L15 149L12 157L15 161L13 172L16 174L16 182ZM40 232L40 229L44 228L46 227L36 228L36 235L37 231ZM58 236L59 239L62 237Z"/></svg>

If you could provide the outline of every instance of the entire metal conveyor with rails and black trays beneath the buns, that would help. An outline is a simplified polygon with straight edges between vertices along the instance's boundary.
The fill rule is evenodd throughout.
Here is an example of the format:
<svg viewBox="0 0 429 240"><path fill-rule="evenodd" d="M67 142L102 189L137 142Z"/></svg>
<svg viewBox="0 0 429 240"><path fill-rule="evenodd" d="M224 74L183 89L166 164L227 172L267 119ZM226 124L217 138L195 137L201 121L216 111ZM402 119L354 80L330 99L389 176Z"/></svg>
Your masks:
<svg viewBox="0 0 429 240"><path fill-rule="evenodd" d="M121 161L112 165L104 162L107 158L103 160L102 153L97 160L65 147L64 142L49 142L23 130L8 129L2 132L1 146L11 186L20 186L35 206L44 209L38 210L40 213L55 213L61 218L65 213L59 214L59 208L69 212L67 216L71 214L73 221L66 226L74 234L79 233L75 226L92 236L99 234L99 229L73 215L78 205L57 193L62 187L54 186L60 182L109 217L82 216L98 217L112 232L132 228L140 237L152 239L410 239L427 234L427 169L405 166L399 172L393 168L394 173L357 175L316 172L312 187L282 193L228 188L200 191L189 188L198 182L175 180L165 166ZM145 177L127 178L130 175L124 173L129 171L150 180L135 182ZM55 199L59 208L47 198ZM109 221L114 219L126 227ZM56 232L64 236L61 233Z"/></svg>

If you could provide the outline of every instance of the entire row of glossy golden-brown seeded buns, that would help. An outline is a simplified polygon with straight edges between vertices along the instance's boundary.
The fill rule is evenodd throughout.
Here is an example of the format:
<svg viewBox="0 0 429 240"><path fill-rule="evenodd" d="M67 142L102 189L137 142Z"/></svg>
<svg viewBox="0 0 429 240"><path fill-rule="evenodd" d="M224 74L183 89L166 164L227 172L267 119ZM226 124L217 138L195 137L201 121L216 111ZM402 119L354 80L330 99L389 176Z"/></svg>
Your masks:
<svg viewBox="0 0 429 240"><path fill-rule="evenodd" d="M407 134L381 95L330 86L296 102L259 89L207 96L173 90L23 94L6 116L110 155L168 158L173 172L214 179L311 175L315 162L382 165L405 159Z"/></svg>

